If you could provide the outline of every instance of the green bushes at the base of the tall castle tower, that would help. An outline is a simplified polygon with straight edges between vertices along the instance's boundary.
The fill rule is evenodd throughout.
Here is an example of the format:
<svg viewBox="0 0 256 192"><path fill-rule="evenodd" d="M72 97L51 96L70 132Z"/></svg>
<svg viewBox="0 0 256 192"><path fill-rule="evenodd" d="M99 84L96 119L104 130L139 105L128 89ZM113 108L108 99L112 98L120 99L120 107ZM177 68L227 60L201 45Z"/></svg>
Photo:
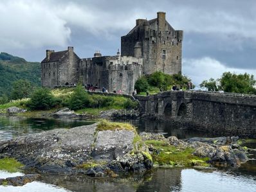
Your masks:
<svg viewBox="0 0 256 192"><path fill-rule="evenodd" d="M167 91L172 89L173 85L177 85L181 89L187 89L188 82L191 80L182 74L165 74L161 71L156 71L148 76L139 78L134 86L134 89L140 92L157 93L160 91Z"/></svg>

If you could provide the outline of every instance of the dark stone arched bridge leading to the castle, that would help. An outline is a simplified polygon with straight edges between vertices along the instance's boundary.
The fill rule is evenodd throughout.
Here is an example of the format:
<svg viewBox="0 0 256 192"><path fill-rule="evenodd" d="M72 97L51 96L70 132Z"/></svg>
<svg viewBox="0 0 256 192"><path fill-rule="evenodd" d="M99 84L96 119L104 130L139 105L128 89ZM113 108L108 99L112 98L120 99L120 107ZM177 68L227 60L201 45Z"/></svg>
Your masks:
<svg viewBox="0 0 256 192"><path fill-rule="evenodd" d="M223 135L256 138L256 96L201 91L167 91L136 96L140 112Z"/></svg>

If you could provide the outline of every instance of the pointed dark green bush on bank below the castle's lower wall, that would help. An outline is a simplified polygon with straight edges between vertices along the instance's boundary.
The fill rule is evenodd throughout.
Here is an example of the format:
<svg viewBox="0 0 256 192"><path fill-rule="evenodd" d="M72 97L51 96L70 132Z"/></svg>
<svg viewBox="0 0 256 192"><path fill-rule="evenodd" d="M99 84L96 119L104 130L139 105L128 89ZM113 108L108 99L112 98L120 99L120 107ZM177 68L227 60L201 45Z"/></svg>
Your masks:
<svg viewBox="0 0 256 192"><path fill-rule="evenodd" d="M93 101L91 101L91 98L84 90L84 87L82 87L82 85L77 85L69 98L69 108L72 110L83 109L89 107L90 103L93 103Z"/></svg>

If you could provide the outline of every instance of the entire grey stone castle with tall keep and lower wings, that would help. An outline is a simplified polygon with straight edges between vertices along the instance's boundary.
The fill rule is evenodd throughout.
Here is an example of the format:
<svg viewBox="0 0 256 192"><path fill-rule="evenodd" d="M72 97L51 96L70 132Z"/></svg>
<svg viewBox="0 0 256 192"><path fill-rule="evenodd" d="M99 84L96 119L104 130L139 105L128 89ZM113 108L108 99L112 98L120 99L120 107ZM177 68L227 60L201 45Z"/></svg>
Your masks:
<svg viewBox="0 0 256 192"><path fill-rule="evenodd" d="M121 90L131 94L143 75L162 71L181 73L183 31L174 30L158 12L152 20L136 19L136 26L121 37L121 53L93 58L79 58L73 47L66 51L46 50L42 60L42 87L57 87L81 82L105 87L109 92Z"/></svg>

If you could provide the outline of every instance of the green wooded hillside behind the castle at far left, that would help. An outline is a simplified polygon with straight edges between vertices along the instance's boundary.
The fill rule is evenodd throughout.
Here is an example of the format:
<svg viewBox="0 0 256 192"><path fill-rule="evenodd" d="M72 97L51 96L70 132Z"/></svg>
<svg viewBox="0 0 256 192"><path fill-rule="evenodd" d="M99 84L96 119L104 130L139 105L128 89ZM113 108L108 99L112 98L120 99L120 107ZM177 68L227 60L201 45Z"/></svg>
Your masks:
<svg viewBox="0 0 256 192"><path fill-rule="evenodd" d="M0 96L10 94L12 83L20 79L28 80L36 86L41 85L41 64L0 53Z"/></svg>

